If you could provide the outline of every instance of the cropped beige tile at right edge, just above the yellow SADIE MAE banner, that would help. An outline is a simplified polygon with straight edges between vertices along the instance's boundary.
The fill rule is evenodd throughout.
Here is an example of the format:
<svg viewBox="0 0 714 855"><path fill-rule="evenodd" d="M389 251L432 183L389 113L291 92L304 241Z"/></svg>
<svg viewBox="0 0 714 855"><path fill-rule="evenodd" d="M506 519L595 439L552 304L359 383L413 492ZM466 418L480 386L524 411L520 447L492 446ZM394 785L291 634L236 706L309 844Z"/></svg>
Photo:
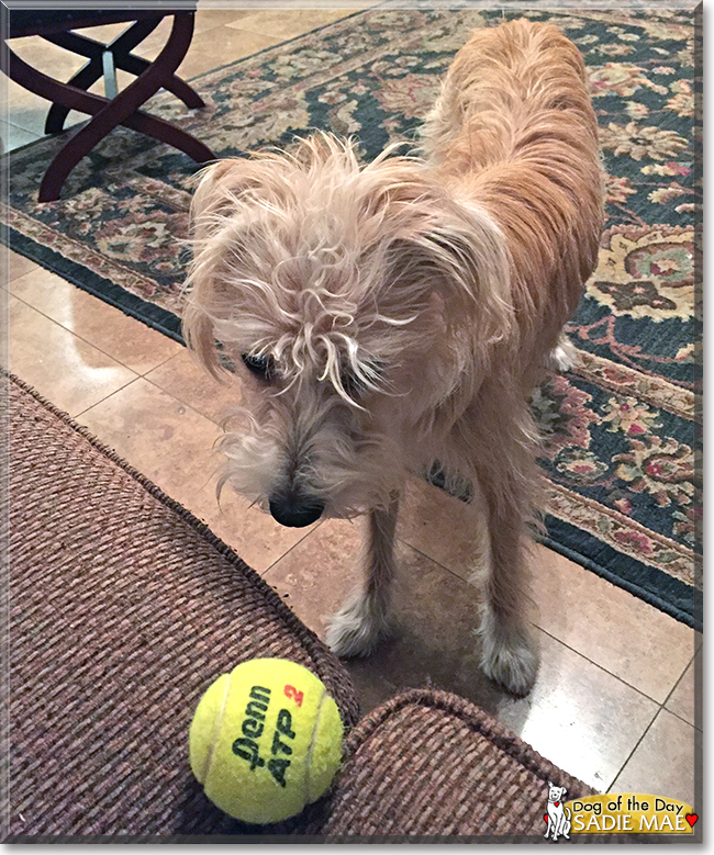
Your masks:
<svg viewBox="0 0 714 855"><path fill-rule="evenodd" d="M701 752L701 732L662 709L610 790L680 799L701 812L701 791L696 799L694 786Z"/></svg>

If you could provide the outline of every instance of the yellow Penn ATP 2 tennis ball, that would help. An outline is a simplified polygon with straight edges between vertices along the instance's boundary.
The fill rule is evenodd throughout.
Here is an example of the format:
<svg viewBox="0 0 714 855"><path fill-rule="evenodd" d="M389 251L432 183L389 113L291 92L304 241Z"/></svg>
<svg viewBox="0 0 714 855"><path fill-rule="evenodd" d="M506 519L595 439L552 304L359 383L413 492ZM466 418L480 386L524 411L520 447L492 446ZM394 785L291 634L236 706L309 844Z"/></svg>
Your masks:
<svg viewBox="0 0 714 855"><path fill-rule="evenodd" d="M324 795L342 758L343 724L302 665L255 659L212 683L189 731L191 770L243 822L280 822Z"/></svg>

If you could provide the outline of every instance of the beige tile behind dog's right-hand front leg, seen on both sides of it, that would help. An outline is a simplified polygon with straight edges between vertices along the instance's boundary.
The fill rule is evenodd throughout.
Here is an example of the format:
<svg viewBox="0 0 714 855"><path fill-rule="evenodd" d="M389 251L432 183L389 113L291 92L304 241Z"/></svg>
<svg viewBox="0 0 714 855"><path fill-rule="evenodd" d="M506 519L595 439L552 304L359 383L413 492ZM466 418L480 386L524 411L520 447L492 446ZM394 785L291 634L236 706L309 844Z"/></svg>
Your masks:
<svg viewBox="0 0 714 855"><path fill-rule="evenodd" d="M465 580L472 526L462 502L410 482L399 536ZM693 630L542 544L532 548L528 562L537 626L662 704L692 657ZM669 640L665 648L661 638Z"/></svg>

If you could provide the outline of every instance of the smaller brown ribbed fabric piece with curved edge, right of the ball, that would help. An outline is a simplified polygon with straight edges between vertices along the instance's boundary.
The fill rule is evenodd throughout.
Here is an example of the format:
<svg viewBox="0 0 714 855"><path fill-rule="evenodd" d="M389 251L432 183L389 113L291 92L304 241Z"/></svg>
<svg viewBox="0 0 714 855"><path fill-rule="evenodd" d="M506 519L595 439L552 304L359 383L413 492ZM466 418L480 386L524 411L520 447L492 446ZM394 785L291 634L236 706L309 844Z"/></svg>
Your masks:
<svg viewBox="0 0 714 855"><path fill-rule="evenodd" d="M309 831L542 840L548 780L567 788L567 800L593 792L470 701L414 689L352 732L330 817Z"/></svg>

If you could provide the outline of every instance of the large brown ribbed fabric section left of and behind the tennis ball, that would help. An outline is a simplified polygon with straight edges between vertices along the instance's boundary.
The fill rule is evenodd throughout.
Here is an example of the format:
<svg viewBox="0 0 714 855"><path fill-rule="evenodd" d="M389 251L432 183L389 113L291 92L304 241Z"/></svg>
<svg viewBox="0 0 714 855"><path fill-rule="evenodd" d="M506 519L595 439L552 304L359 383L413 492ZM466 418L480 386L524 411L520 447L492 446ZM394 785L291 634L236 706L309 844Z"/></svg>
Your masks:
<svg viewBox="0 0 714 855"><path fill-rule="evenodd" d="M191 777L187 734L202 691L243 660L285 656L323 679L352 725L349 677L204 525L4 376L3 835L245 831Z"/></svg>

